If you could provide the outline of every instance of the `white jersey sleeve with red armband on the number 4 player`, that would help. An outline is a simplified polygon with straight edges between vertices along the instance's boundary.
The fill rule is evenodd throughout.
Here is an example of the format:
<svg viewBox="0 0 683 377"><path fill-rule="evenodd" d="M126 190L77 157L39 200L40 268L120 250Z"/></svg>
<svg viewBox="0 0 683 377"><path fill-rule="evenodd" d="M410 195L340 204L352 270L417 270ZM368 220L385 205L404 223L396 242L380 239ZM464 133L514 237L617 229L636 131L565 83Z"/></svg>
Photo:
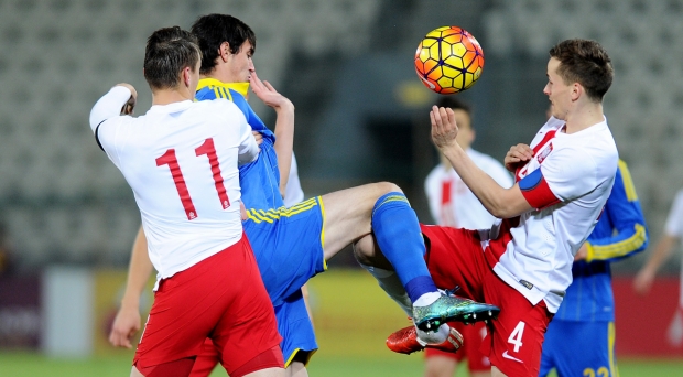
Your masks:
<svg viewBox="0 0 683 377"><path fill-rule="evenodd" d="M519 181L522 195L532 207L542 209L595 188L595 162L583 159L577 163L577 155L585 154L574 148L553 151L539 169Z"/></svg>

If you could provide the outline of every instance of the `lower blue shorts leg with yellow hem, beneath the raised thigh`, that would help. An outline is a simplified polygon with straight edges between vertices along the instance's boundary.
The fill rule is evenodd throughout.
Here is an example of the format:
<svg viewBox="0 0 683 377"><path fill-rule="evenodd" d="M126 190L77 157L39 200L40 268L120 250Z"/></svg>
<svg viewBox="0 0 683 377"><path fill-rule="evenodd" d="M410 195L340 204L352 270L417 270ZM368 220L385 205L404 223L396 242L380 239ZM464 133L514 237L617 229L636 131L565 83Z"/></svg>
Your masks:
<svg viewBox="0 0 683 377"><path fill-rule="evenodd" d="M317 343L301 290L286 298L281 305L275 306L275 319L278 331L282 336L280 347L284 357L284 367L290 366L294 356L300 353L303 353L305 358L299 360L304 365L308 364L311 356L317 351Z"/></svg>

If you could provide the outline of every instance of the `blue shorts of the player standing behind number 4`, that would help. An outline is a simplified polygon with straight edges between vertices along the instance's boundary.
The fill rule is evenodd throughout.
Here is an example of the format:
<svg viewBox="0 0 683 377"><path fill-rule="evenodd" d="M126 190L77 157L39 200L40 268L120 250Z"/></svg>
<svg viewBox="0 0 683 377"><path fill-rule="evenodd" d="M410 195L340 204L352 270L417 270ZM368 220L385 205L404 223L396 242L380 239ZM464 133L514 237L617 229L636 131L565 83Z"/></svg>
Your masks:
<svg viewBox="0 0 683 377"><path fill-rule="evenodd" d="M617 376L615 323L551 321L539 376L553 368L557 376Z"/></svg>

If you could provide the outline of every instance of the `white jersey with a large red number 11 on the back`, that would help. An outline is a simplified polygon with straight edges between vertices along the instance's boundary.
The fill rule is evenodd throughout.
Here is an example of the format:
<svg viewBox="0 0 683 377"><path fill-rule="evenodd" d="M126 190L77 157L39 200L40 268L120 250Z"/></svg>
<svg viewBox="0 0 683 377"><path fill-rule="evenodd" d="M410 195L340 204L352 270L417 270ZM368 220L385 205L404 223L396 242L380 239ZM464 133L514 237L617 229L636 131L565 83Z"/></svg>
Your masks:
<svg viewBox="0 0 683 377"><path fill-rule="evenodd" d="M152 265L169 278L241 238L238 161L254 160L258 146L226 99L118 116L129 97L112 88L93 108L90 127L131 186Z"/></svg>

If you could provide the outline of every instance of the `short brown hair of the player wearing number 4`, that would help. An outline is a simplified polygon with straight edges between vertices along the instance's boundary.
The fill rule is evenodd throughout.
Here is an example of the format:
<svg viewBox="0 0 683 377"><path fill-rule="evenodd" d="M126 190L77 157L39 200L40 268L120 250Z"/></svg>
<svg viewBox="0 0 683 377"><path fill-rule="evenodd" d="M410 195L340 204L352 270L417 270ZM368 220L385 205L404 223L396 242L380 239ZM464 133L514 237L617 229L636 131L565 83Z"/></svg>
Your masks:
<svg viewBox="0 0 683 377"><path fill-rule="evenodd" d="M565 84L578 83L588 98L601 101L615 77L611 60L595 41L566 40L550 50L550 56L560 61L557 75Z"/></svg>

